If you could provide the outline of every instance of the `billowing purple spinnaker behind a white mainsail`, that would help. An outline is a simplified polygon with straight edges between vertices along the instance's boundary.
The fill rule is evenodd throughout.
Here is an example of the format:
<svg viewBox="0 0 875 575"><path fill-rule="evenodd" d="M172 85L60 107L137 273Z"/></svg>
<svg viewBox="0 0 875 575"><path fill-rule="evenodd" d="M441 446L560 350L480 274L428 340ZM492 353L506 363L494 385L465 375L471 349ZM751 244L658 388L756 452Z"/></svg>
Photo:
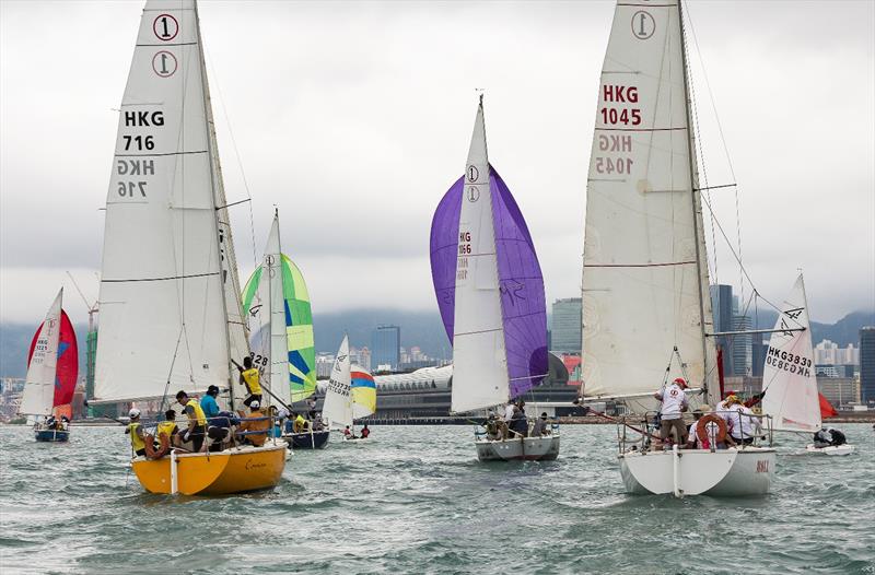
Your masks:
<svg viewBox="0 0 875 575"><path fill-rule="evenodd" d="M518 397L538 385L547 374L547 304L544 278L532 236L511 190L492 166L490 173L510 396ZM463 185L463 178L459 178L444 195L434 212L431 226L432 281L451 343Z"/></svg>

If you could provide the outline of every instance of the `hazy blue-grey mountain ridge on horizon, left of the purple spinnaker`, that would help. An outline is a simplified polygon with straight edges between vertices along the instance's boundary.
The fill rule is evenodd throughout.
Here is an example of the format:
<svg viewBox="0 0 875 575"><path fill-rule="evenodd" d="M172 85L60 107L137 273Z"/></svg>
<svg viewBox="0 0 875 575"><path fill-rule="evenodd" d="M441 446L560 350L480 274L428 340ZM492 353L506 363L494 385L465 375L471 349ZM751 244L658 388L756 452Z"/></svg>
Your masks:
<svg viewBox="0 0 875 575"><path fill-rule="evenodd" d="M357 348L371 348L371 331L378 325L392 324L401 328L401 347L419 345L432 357L452 357L453 352L438 312L399 312L397 309L354 309L334 314L316 314L313 329L316 351L337 353L343 331ZM74 326L79 341L79 365L85 365L88 326ZM36 326L0 325L0 376L24 377L27 374L27 348Z"/></svg>

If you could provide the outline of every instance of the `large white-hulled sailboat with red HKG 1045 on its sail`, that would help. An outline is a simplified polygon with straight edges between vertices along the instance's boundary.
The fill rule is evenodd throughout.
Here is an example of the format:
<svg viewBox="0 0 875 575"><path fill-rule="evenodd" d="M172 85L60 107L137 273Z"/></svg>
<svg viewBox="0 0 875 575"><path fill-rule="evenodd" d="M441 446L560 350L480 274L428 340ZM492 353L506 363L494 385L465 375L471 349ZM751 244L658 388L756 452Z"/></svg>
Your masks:
<svg viewBox="0 0 875 575"><path fill-rule="evenodd" d="M676 377L711 406L721 399L684 46L678 0L617 2L586 193L582 379L585 399L637 414L655 410L660 384ZM770 447L653 451L643 436L623 441L627 430L618 462L628 492L770 489Z"/></svg>

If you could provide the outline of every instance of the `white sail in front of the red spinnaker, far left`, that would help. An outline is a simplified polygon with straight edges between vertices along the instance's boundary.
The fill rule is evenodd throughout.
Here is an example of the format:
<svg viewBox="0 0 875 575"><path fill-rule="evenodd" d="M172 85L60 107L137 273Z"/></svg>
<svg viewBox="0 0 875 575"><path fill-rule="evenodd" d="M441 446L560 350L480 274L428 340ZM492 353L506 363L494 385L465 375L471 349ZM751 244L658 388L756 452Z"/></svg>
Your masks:
<svg viewBox="0 0 875 575"><path fill-rule="evenodd" d="M27 378L21 396L19 413L50 415L55 408L55 375L58 366L58 337L61 332L61 303L63 289L48 308L43 329L27 366Z"/></svg>

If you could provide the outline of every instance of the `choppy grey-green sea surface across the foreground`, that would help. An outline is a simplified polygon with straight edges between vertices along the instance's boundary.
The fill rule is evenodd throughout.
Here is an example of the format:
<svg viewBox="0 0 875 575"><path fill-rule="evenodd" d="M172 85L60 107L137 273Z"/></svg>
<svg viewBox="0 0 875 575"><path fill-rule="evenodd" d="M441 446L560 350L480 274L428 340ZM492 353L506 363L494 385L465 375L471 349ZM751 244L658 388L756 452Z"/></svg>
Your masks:
<svg viewBox="0 0 875 575"><path fill-rule="evenodd" d="M375 426L294 451L270 492L145 493L121 427L37 444L0 426L0 573L875 573L875 431L792 455L772 492L626 495L612 425L565 425L559 459L479 463L466 426Z"/></svg>

